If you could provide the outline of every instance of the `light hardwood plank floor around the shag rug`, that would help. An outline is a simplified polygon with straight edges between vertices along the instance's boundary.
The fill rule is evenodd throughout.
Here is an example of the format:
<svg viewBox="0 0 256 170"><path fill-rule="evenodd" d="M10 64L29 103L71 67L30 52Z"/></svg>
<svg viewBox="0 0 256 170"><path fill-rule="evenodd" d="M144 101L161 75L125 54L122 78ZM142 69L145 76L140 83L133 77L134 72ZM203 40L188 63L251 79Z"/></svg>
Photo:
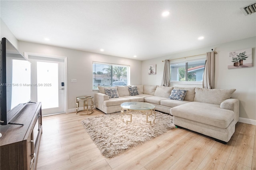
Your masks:
<svg viewBox="0 0 256 170"><path fill-rule="evenodd" d="M256 126L237 123L227 145L175 128L114 158L102 156L82 125L92 115L43 117L37 170L256 170Z"/></svg>

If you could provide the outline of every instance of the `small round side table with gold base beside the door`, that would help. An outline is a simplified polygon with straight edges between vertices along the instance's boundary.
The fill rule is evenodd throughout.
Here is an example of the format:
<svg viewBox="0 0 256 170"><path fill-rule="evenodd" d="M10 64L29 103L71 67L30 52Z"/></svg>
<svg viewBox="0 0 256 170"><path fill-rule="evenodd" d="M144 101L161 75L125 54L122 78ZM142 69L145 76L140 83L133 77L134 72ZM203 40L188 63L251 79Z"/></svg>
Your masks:
<svg viewBox="0 0 256 170"><path fill-rule="evenodd" d="M76 97L76 114L77 115L90 115L93 113L93 101L92 101L93 97L92 96L79 96L79 97ZM79 101L78 100L83 100L84 101L84 109L83 110L80 110L78 111L79 109ZM85 108L86 107L86 108ZM90 109L89 109L90 107ZM87 111L87 113L84 113L84 114L79 114L79 112L81 111Z"/></svg>

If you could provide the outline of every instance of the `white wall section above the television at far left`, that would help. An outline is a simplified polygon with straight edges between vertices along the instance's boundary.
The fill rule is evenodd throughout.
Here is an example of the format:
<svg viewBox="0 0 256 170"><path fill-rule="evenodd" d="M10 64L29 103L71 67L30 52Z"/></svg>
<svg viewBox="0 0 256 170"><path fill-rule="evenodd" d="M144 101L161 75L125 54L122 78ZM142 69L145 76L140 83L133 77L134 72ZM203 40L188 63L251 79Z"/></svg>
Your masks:
<svg viewBox="0 0 256 170"><path fill-rule="evenodd" d="M0 36L1 40L2 38L6 38L14 47L18 49L18 40L16 37L12 34L12 32L9 30L9 28L6 26L6 24L0 19Z"/></svg>

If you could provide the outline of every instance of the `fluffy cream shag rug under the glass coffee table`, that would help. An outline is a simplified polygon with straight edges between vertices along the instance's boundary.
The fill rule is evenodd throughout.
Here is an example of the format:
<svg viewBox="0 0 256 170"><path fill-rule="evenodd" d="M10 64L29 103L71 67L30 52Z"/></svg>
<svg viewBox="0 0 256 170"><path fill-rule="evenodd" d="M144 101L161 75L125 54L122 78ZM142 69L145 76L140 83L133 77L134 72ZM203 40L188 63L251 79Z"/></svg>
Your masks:
<svg viewBox="0 0 256 170"><path fill-rule="evenodd" d="M133 111L131 111L133 112ZM129 115L124 118L130 120ZM154 115L148 117L153 120ZM175 128L173 117L156 111L155 124L146 123L144 112L133 112L132 123L122 122L120 112L84 119L84 128L102 155L112 158Z"/></svg>

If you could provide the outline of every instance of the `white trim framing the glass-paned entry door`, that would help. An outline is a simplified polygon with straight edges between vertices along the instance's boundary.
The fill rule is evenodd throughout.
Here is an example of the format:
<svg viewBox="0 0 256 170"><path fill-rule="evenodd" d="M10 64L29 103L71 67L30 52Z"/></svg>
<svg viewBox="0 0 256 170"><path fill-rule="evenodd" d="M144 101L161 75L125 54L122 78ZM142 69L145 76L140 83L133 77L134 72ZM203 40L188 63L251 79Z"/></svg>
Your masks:
<svg viewBox="0 0 256 170"><path fill-rule="evenodd" d="M65 94L65 103L64 103L64 113L68 113L68 58L64 56L58 56L58 55L47 55L47 54L39 54L39 53L30 53L30 52L24 52L24 57L28 59L28 56L36 56L36 57L45 57L45 58L55 58L55 59L63 59L64 60L64 94ZM55 115L55 114L52 114ZM47 115L45 115L47 116Z"/></svg>

